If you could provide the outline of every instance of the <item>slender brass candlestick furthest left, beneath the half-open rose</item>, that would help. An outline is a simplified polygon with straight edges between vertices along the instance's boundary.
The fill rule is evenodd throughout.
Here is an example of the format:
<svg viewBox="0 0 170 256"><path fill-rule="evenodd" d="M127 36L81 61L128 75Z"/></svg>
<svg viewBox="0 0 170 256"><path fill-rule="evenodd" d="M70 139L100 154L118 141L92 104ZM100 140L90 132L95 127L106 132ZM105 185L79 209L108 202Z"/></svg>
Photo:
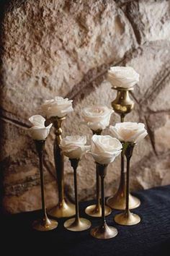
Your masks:
<svg viewBox="0 0 170 256"><path fill-rule="evenodd" d="M43 176L43 165L42 165L42 155L45 148L45 140L35 140L35 146L36 146L37 153L39 156L39 161L40 161L42 218L40 220L34 221L32 223L32 227L37 231L49 231L49 230L55 229L58 226L58 222L48 218L46 208L45 208L44 176Z"/></svg>

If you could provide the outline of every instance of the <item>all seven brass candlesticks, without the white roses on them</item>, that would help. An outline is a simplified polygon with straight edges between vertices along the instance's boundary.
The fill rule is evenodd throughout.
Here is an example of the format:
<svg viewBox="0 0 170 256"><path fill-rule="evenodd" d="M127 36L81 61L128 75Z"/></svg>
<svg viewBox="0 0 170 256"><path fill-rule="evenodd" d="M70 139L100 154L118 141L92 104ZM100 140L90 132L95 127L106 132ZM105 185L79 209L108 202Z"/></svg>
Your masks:
<svg viewBox="0 0 170 256"><path fill-rule="evenodd" d="M121 121L124 121L126 114L133 110L134 103L130 99L129 91L133 88L115 88L117 90L117 97L115 101L112 101L112 108L117 114L120 114ZM82 231L89 229L91 222L85 218L79 217L79 200L77 193L77 181L76 181L76 169L79 163L79 159L70 159L71 166L74 171L74 190L75 190L75 205L71 202L66 202L64 195L64 170L63 170L63 154L61 154L61 134L62 134L62 122L63 118L54 118L53 127L55 128L55 143L54 143L54 157L55 157L55 169L58 181L58 205L52 210L48 211L48 215L53 218L68 218L76 214L76 218L68 219L64 223L66 229L71 231ZM94 134L100 135L101 130L94 132ZM56 220L48 218L45 207L45 192L44 192L44 179L42 172L42 154L45 146L45 140L35 140L37 152L40 159L40 179L41 179L41 193L42 193L42 219L33 223L33 228L38 231L48 231L55 229L58 226ZM130 175L130 158L133 153L134 143L129 143L125 150L121 153L121 174L120 174L120 186L114 196L107 199L107 205L104 202L104 176L106 174L107 165L101 165L97 163L97 203L96 205L89 205L85 212L91 217L102 217L102 224L97 228L91 229L91 235L99 239L109 239L117 235L117 229L107 226L105 216L111 213L111 209L124 210L123 213L115 216L115 222L121 225L130 226L140 222L140 217L130 210L137 208L140 205L140 200L129 192L129 175ZM124 158L127 158L127 171L124 168ZM126 179L125 179L126 178ZM101 182L101 184L100 184ZM101 185L101 188L100 188ZM101 190L101 202L100 202L100 190Z"/></svg>

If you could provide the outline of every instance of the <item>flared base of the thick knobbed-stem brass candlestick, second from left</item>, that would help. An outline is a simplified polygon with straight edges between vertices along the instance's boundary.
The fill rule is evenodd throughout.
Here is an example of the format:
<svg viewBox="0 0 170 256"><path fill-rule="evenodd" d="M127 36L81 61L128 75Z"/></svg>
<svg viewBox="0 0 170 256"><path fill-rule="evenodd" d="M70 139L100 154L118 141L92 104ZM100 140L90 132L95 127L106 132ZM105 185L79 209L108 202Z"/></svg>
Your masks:
<svg viewBox="0 0 170 256"><path fill-rule="evenodd" d="M63 200L62 203L58 203L58 205L49 210L48 214L53 218L68 218L76 214L76 208L71 202Z"/></svg>

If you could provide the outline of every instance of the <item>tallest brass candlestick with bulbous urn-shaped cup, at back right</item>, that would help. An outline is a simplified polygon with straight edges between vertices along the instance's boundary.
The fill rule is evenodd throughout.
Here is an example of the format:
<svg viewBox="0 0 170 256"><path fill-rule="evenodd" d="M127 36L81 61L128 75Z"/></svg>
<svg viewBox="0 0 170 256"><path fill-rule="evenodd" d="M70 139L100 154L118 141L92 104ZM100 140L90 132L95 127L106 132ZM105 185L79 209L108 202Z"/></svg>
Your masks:
<svg viewBox="0 0 170 256"><path fill-rule="evenodd" d="M130 99L129 92L133 88L115 88L117 90L117 97L112 101L112 108L120 115L121 122L124 121L125 115L130 113L134 108L134 102ZM125 171L124 171L124 156L121 154L121 173L120 185L114 196L107 199L107 205L112 209L125 210ZM129 195L129 208L134 209L140 205L140 200L133 195Z"/></svg>

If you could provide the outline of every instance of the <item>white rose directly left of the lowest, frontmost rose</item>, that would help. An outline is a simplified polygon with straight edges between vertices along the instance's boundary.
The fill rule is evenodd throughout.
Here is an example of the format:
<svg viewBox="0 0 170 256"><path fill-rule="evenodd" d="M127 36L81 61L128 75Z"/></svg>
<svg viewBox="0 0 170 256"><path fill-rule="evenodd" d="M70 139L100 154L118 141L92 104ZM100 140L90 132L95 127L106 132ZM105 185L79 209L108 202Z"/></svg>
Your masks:
<svg viewBox="0 0 170 256"><path fill-rule="evenodd" d="M80 159L90 146L86 144L86 136L66 136L61 140L61 150L70 159Z"/></svg>

